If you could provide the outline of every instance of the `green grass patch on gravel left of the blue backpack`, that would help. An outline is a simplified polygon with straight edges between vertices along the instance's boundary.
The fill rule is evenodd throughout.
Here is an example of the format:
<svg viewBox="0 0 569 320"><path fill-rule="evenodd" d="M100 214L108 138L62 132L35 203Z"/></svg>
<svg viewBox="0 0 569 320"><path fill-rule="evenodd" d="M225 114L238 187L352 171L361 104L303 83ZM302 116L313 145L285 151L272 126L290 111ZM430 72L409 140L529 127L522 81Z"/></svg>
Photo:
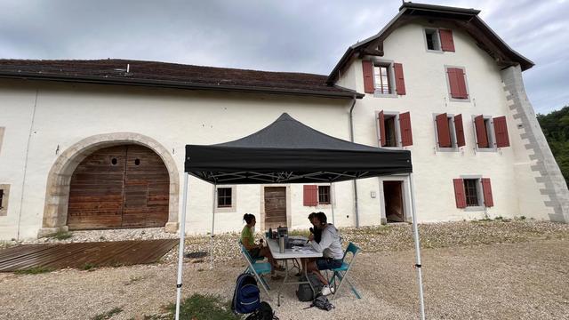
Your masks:
<svg viewBox="0 0 569 320"><path fill-rule="evenodd" d="M176 305L171 303L167 310L173 317ZM180 319L235 320L240 317L234 315L229 302L221 300L219 296L195 293L181 302Z"/></svg>

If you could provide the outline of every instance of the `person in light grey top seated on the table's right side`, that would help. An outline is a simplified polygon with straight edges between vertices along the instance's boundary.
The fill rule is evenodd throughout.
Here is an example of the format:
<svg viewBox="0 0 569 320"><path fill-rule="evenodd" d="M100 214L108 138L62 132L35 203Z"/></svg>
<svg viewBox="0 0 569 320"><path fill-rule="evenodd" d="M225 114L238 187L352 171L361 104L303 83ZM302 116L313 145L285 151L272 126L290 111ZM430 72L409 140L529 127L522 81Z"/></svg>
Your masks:
<svg viewBox="0 0 569 320"><path fill-rule="evenodd" d="M340 268L344 252L341 250L340 233L332 223L327 223L326 215L324 212L318 212L314 218L317 228L322 231L322 238L320 243L314 239L314 234L309 236L309 241L314 250L322 252L323 257L317 260L310 261L307 264L307 271L312 272L318 276L318 279L325 284L322 289L323 295L328 295L333 292L328 284L325 276L322 276L320 270L331 270L333 268Z"/></svg>

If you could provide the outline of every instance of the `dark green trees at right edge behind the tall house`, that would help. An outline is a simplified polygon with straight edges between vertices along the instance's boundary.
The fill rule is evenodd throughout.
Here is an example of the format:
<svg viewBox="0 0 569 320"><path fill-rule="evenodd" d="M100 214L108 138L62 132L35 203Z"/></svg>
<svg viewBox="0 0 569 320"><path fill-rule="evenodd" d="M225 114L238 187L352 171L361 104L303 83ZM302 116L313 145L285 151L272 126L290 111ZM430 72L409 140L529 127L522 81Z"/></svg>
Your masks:
<svg viewBox="0 0 569 320"><path fill-rule="evenodd" d="M569 106L548 115L538 114L537 120L565 182L569 185Z"/></svg>

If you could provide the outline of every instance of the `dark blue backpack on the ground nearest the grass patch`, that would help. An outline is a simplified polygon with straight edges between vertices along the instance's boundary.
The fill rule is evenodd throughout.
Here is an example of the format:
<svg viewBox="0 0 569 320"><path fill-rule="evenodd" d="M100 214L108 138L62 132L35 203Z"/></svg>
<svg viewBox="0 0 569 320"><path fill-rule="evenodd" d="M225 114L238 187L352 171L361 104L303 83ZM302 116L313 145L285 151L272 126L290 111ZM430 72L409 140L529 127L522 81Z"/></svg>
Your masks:
<svg viewBox="0 0 569 320"><path fill-rule="evenodd" d="M260 307L260 292L257 280L249 273L237 276L231 310L235 314L248 314Z"/></svg>

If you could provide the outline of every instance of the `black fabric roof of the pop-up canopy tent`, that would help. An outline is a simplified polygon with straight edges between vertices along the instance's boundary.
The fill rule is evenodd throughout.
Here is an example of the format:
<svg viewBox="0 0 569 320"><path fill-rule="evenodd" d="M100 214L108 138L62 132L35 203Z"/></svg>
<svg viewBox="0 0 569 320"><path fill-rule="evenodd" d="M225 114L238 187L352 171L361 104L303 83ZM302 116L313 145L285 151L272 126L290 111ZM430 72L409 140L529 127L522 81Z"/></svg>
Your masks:
<svg viewBox="0 0 569 320"><path fill-rule="evenodd" d="M337 139L284 113L239 140L187 145L185 172L214 184L338 182L409 173L412 164L410 151Z"/></svg>

